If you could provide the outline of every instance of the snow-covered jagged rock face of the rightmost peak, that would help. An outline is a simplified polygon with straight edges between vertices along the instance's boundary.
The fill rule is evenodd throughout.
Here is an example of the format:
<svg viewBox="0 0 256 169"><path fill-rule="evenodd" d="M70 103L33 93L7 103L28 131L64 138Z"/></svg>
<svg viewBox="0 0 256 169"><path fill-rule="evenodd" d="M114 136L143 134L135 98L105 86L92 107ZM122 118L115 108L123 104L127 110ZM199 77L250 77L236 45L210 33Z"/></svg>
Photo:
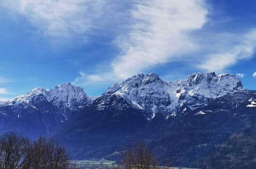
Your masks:
<svg viewBox="0 0 256 169"><path fill-rule="evenodd" d="M178 86L175 91L179 98L178 104L180 108L185 107L183 110L194 110L206 106L213 99L244 90L235 75L216 75L214 72L194 73L189 75L187 80L179 80L175 84Z"/></svg>

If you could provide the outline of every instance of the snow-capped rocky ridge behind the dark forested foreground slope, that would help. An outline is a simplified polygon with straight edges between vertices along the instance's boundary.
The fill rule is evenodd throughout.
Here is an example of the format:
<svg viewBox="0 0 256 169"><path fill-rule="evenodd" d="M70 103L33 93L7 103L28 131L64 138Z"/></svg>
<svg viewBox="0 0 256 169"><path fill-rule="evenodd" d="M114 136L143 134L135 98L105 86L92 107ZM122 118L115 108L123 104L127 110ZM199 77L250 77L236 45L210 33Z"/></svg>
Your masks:
<svg viewBox="0 0 256 169"><path fill-rule="evenodd" d="M97 111L117 114L133 109L148 121L156 114L168 119L185 115L220 96L241 90L244 87L235 75L216 75L214 72L193 73L186 80L176 82L161 80L155 73L138 74L115 83L95 101L87 96L83 88L64 83L52 89L38 87L1 103L0 126L2 131L8 128L19 131L25 126L35 134L37 131L47 134L86 105L92 105L90 107ZM38 129L34 129L32 124Z"/></svg>

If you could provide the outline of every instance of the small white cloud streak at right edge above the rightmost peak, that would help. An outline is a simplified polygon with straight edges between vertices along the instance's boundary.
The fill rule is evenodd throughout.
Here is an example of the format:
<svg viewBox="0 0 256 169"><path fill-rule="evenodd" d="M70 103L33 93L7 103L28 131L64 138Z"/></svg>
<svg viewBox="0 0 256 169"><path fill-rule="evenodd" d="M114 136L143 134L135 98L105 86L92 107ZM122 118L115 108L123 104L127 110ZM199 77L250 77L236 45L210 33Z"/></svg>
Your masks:
<svg viewBox="0 0 256 169"><path fill-rule="evenodd" d="M238 61L249 59L254 55L256 30L250 31L245 35L230 35L230 39L232 39L232 36L240 36L238 44L225 46L225 52L206 55L198 67L207 71L222 71Z"/></svg>

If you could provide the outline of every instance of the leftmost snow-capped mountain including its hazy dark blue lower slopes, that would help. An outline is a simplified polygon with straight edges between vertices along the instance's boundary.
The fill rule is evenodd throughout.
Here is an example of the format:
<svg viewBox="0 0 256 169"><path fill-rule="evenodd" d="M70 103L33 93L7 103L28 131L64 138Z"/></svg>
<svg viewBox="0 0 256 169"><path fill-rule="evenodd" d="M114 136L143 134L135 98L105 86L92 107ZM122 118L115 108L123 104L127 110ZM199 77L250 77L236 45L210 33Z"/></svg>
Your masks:
<svg viewBox="0 0 256 169"><path fill-rule="evenodd" d="M81 87L71 83L50 90L36 88L0 104L1 127L33 129L34 125L35 133L50 133L72 112L91 102Z"/></svg>

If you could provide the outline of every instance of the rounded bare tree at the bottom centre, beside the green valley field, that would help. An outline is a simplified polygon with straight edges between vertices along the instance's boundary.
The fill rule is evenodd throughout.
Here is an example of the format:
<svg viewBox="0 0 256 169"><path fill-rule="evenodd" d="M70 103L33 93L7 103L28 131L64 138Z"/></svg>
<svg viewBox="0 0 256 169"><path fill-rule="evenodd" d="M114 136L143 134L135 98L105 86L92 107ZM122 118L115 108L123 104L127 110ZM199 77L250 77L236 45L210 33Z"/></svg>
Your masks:
<svg viewBox="0 0 256 169"><path fill-rule="evenodd" d="M130 145L123 154L122 163L126 169L156 169L157 160L143 141Z"/></svg>

